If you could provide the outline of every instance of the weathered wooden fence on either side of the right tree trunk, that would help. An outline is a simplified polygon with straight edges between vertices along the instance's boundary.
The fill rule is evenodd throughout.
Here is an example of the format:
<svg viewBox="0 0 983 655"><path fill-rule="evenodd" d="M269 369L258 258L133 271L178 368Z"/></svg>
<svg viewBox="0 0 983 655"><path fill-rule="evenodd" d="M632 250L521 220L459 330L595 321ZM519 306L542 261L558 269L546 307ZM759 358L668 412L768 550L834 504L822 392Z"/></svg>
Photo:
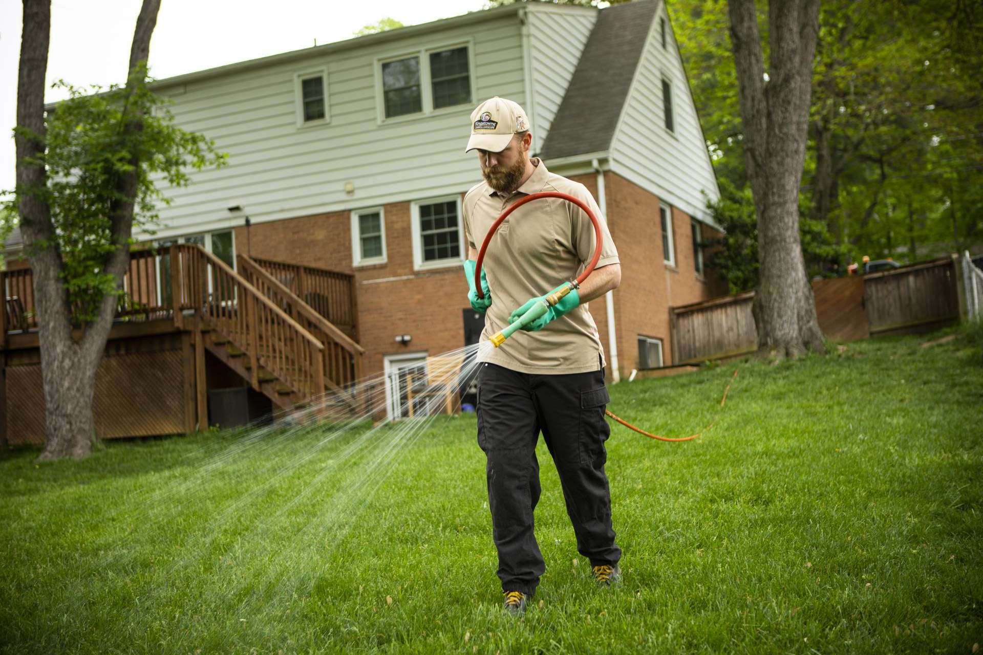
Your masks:
<svg viewBox="0 0 983 655"><path fill-rule="evenodd" d="M842 341L926 331L958 320L956 286L952 257L812 285L820 327ZM749 292L670 307L672 363L755 351L753 300Z"/></svg>

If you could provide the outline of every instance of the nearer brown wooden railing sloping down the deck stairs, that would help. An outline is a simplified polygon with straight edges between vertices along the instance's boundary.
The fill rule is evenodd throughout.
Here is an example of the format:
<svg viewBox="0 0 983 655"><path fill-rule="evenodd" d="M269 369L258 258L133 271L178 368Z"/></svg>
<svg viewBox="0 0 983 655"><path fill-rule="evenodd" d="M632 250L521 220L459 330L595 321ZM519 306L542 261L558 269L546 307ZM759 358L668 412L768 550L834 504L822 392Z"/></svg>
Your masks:
<svg viewBox="0 0 983 655"><path fill-rule="evenodd" d="M324 393L323 345L224 261L196 244L170 246L174 318L186 309L253 361L254 388L264 367L303 399Z"/></svg>

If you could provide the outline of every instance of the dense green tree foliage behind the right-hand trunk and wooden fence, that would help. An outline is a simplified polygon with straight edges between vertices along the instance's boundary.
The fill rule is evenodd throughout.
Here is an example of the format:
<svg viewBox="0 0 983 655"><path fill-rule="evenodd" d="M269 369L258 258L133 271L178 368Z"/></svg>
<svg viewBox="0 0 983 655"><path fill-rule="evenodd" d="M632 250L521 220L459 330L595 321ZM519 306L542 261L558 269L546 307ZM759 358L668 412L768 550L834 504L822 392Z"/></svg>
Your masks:
<svg viewBox="0 0 983 655"><path fill-rule="evenodd" d="M757 7L767 70L768 3ZM673 0L668 9L718 179L741 189L726 2ZM916 261L983 244L980 18L945 0L823 3L802 216L826 224L841 261ZM816 197L824 156L833 171L825 212Z"/></svg>

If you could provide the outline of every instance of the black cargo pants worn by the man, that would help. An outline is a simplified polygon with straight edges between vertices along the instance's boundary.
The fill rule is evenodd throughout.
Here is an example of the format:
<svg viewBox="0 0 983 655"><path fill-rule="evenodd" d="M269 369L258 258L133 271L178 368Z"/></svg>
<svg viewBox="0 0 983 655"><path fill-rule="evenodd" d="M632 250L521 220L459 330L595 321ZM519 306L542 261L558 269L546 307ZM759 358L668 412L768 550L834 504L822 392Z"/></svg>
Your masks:
<svg viewBox="0 0 983 655"><path fill-rule="evenodd" d="M614 565L621 549L611 528L603 370L519 373L492 363L478 372L478 445L488 456L492 537L503 591L532 594L546 571L533 534L540 500L540 430L559 472L577 551L592 566Z"/></svg>

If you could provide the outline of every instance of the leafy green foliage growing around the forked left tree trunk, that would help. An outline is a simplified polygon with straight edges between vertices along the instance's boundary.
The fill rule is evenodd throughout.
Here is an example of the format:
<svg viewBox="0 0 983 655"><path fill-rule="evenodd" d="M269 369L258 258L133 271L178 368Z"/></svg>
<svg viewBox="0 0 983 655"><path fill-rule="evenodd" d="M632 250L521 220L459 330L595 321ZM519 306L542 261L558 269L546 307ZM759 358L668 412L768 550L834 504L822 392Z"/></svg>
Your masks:
<svg viewBox="0 0 983 655"><path fill-rule="evenodd" d="M158 219L155 203L170 203L158 185L187 186L190 170L222 166L227 155L204 136L175 127L168 101L149 89L145 70L135 72L129 86L104 91L65 82L56 86L70 97L47 114L47 188L17 189L9 206L26 193L41 193L47 200L57 243L33 247L55 247L61 253L73 320L90 321L106 294L122 293L104 266L120 237L113 234L112 216L129 213L130 198L120 181L135 170L134 162L133 225L152 233ZM127 129L134 125L139 129ZM9 217L4 224L9 229Z"/></svg>

